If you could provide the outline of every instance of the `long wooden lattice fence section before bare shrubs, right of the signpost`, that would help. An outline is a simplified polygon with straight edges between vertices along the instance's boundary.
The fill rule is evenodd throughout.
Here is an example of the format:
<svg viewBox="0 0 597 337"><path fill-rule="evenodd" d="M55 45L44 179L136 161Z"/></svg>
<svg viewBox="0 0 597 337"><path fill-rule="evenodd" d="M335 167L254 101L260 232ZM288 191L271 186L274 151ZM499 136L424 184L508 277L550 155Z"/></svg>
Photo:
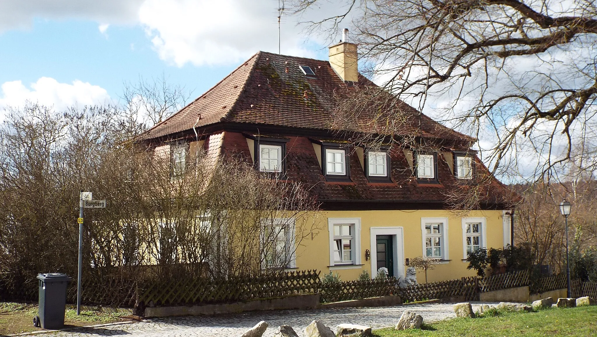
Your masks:
<svg viewBox="0 0 597 337"><path fill-rule="evenodd" d="M179 278L147 281L139 287L138 296L144 305L207 304L316 293L319 284L319 272L311 270L220 279Z"/></svg>

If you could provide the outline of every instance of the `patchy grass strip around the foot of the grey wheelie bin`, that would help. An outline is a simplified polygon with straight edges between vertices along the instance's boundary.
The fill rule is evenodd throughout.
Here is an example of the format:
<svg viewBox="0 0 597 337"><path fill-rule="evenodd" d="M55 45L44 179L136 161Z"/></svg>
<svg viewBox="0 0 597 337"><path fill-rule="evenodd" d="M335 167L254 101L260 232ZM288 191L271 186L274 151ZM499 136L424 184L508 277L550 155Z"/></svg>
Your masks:
<svg viewBox="0 0 597 337"><path fill-rule="evenodd" d="M37 304L0 302L0 336L42 330L33 326L33 316L37 314ZM76 310L67 309L64 314L64 327L131 320L131 317L120 317L119 314L106 314L97 311L81 311L81 315L77 316Z"/></svg>

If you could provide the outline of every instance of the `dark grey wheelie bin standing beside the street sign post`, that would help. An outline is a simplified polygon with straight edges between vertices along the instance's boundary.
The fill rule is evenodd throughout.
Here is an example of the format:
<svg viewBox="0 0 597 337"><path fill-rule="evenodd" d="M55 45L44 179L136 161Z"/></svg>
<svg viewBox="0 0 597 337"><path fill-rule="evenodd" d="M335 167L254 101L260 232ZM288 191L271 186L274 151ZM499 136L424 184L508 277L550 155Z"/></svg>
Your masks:
<svg viewBox="0 0 597 337"><path fill-rule="evenodd" d="M38 274L39 315L33 318L33 325L43 329L60 329L64 326L66 309L66 286L72 280L58 272Z"/></svg>

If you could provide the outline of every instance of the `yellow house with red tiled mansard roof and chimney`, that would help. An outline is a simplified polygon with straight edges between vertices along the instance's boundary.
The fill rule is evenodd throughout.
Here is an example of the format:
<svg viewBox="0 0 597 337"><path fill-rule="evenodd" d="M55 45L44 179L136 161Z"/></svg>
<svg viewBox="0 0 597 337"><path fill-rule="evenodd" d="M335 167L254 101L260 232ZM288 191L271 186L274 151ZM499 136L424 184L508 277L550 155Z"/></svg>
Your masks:
<svg viewBox="0 0 597 337"><path fill-rule="evenodd" d="M470 149L475 139L404 102L394 106L404 124L386 146L338 131L338 93L375 87L358 73L356 53L349 42L330 47L329 61L259 52L144 140L169 154L175 171L202 149L208 160L241 158L266 176L307 186L321 203L313 213L320 230L298 247L293 231L284 231L288 269L353 280L385 267L399 277L410 259L426 256L439 262L429 281L473 275L467 252L510 243L512 196ZM356 122L352 135L366 124ZM481 195L476 206L454 210L470 191Z"/></svg>

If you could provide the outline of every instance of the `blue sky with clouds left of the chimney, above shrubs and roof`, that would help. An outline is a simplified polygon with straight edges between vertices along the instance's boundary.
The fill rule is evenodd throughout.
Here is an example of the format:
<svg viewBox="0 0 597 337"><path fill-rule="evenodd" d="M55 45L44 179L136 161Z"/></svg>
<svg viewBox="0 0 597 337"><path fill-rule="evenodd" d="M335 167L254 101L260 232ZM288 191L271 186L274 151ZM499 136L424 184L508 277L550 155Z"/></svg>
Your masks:
<svg viewBox="0 0 597 337"><path fill-rule="evenodd" d="M251 54L277 51L277 6L276 0L2 0L0 108L26 100L57 109L102 104L118 100L125 82L162 74L192 91L192 99ZM327 58L327 48L307 39L295 18L283 17L282 36L282 53Z"/></svg>

